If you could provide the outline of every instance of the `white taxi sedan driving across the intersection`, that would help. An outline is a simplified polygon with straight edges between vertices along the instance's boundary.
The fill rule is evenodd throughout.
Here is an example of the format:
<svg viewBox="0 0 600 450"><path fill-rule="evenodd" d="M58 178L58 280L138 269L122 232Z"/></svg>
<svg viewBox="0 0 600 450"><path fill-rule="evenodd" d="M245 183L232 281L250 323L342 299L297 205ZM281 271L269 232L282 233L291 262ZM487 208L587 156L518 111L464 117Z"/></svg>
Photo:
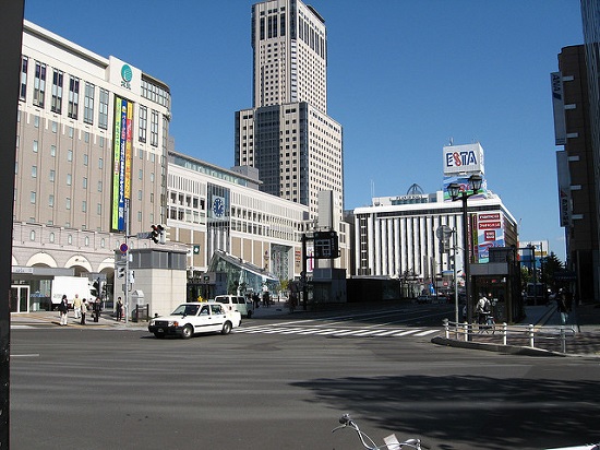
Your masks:
<svg viewBox="0 0 600 450"><path fill-rule="evenodd" d="M229 334L241 322L239 311L228 311L221 304L187 303L179 305L169 316L152 319L148 331L156 338L179 335L190 339L196 333Z"/></svg>

